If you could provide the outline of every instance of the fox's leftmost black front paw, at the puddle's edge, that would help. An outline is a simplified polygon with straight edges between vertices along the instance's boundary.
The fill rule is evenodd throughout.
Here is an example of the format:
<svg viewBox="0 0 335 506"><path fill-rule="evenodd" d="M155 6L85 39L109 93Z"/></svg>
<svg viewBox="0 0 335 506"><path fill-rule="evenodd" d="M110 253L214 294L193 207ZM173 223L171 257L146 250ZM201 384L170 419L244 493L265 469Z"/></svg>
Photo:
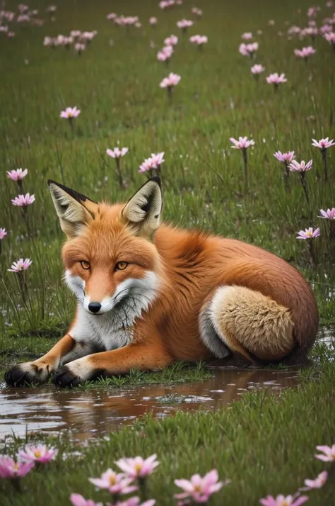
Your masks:
<svg viewBox="0 0 335 506"><path fill-rule="evenodd" d="M9 386L25 386L32 383L45 383L50 376L49 364L44 362L25 362L17 364L5 373L5 381Z"/></svg>

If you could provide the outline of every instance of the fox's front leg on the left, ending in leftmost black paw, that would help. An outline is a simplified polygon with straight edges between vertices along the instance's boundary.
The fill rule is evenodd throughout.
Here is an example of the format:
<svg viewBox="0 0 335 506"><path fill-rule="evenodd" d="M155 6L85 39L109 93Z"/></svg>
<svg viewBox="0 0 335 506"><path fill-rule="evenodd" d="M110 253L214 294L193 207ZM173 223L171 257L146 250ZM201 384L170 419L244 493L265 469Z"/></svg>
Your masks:
<svg viewBox="0 0 335 506"><path fill-rule="evenodd" d="M6 372L5 381L11 386L23 386L33 382L44 383L59 364L65 364L92 351L90 344L76 342L69 334L66 334L40 359L13 366Z"/></svg>

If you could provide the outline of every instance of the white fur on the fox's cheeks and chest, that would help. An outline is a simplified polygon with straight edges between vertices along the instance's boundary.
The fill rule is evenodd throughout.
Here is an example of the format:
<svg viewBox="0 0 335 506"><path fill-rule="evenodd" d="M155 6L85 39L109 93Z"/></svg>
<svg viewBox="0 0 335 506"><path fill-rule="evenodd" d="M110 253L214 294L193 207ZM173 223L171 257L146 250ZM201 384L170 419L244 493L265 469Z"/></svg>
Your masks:
<svg viewBox="0 0 335 506"><path fill-rule="evenodd" d="M110 309L106 313L93 315L85 309L85 286L81 278L66 272L65 279L78 300L76 322L69 334L77 342L92 342L102 350L117 349L131 343L136 318L142 317L148 310L157 288L157 278L152 271L148 271L143 279L127 279L109 298ZM82 283L80 288L79 280Z"/></svg>

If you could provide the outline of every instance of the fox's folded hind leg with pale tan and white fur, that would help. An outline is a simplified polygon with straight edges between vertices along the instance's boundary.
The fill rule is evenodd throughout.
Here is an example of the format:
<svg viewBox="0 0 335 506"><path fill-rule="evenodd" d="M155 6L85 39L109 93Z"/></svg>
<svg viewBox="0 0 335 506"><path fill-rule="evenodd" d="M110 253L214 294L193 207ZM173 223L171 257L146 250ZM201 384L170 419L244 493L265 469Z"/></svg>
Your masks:
<svg viewBox="0 0 335 506"><path fill-rule="evenodd" d="M290 311L243 286L222 286L200 316L201 340L218 358L228 350L250 364L278 361L294 346Z"/></svg>

